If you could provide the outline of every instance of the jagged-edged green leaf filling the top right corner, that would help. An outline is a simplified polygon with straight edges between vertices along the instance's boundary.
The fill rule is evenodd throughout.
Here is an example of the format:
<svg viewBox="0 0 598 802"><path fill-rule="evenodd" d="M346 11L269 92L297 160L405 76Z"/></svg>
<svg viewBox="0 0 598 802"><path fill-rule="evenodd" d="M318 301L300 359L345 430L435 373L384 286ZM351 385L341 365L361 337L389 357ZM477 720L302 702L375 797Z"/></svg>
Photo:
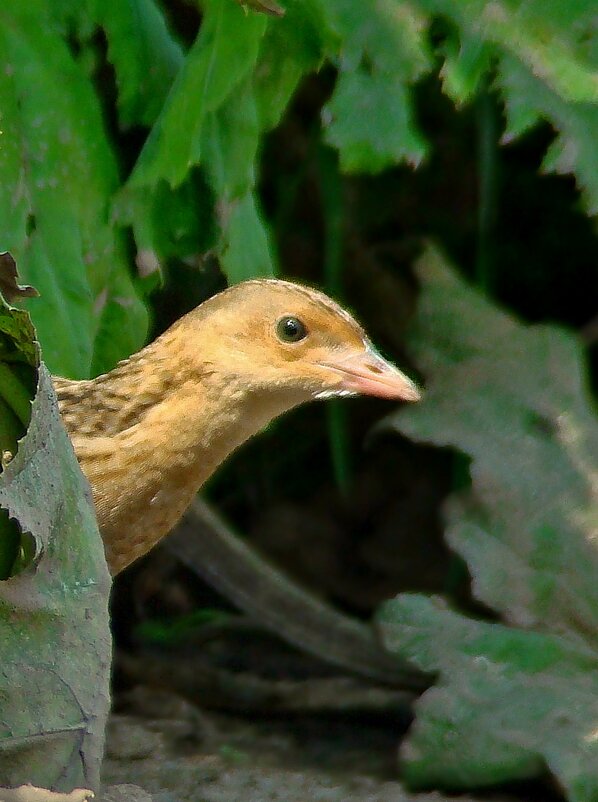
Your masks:
<svg viewBox="0 0 598 802"><path fill-rule="evenodd" d="M570 3L418 0L452 23L443 45L444 89L457 103L471 100L494 75L505 101L510 142L540 120L558 136L543 162L572 173L586 208L598 211L598 32L593 0Z"/></svg>

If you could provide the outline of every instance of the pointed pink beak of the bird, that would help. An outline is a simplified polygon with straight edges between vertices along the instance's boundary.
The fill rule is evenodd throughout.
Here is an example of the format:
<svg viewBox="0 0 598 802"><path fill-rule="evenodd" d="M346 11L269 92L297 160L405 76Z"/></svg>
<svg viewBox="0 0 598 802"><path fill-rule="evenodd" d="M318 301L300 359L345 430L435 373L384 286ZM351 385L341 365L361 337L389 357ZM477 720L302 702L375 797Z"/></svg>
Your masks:
<svg viewBox="0 0 598 802"><path fill-rule="evenodd" d="M342 376L339 389L396 401L419 401L421 398L411 379L369 348L338 362L321 364Z"/></svg>

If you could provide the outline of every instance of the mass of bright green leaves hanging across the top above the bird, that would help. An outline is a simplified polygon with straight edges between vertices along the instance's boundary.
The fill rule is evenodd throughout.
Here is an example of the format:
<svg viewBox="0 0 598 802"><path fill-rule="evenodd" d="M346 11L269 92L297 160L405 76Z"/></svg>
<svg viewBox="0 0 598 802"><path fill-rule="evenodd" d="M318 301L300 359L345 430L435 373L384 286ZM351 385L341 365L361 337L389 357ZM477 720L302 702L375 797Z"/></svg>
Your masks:
<svg viewBox="0 0 598 802"><path fill-rule="evenodd" d="M261 142L302 76L326 62L338 75L323 135L342 169L379 172L426 157L413 87L440 58L457 104L495 80L505 141L547 120L558 136L544 169L572 172L588 211L598 209L591 0L284 6L278 17L204 0L185 52L156 0L3 4L0 243L44 298L32 314L52 370L98 373L143 342L144 285L131 278L127 226L146 271L210 248L231 281L277 270L256 191ZM98 83L98 31L116 81L110 114L122 130L148 131L128 174L102 113L112 101Z"/></svg>

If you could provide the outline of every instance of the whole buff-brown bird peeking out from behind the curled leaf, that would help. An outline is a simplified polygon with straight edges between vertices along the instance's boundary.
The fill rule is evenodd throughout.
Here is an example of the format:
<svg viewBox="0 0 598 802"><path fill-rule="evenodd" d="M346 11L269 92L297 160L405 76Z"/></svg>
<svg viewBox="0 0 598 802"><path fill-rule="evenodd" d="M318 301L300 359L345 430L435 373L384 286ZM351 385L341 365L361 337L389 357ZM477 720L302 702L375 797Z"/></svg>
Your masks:
<svg viewBox="0 0 598 802"><path fill-rule="evenodd" d="M168 534L225 459L279 415L317 399L420 398L348 311L281 279L234 284L110 372L53 382L112 575Z"/></svg>

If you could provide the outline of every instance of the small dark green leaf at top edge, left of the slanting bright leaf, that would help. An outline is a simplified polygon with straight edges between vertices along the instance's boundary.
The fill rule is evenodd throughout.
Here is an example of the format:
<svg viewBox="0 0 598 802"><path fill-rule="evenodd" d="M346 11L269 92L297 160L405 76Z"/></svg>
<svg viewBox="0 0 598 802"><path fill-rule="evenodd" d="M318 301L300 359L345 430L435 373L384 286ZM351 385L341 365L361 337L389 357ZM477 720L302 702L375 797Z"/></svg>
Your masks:
<svg viewBox="0 0 598 802"><path fill-rule="evenodd" d="M121 123L152 125L183 63L183 51L154 0L90 0L108 42Z"/></svg>

